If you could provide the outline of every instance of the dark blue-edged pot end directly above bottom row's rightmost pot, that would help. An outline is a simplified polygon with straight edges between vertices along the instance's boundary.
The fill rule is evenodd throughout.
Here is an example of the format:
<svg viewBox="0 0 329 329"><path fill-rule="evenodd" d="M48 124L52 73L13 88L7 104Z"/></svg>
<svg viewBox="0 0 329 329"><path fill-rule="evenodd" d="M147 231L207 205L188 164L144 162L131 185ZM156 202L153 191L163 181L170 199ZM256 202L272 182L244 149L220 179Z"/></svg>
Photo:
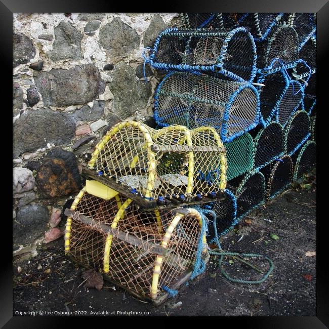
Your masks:
<svg viewBox="0 0 329 329"><path fill-rule="evenodd" d="M292 155L310 136L311 123L309 115L303 111L297 111L284 129L286 153Z"/></svg>

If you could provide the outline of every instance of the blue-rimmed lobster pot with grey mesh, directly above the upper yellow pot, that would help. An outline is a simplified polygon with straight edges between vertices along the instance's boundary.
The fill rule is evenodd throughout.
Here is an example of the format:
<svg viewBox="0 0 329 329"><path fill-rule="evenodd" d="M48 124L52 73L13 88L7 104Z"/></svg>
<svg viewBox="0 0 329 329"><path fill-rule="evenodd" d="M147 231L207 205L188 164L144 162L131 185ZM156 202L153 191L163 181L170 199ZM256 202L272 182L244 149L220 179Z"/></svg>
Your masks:
<svg viewBox="0 0 329 329"><path fill-rule="evenodd" d="M157 124L188 128L214 127L222 141L254 128L258 122L257 90L248 84L207 75L169 73L155 94Z"/></svg>

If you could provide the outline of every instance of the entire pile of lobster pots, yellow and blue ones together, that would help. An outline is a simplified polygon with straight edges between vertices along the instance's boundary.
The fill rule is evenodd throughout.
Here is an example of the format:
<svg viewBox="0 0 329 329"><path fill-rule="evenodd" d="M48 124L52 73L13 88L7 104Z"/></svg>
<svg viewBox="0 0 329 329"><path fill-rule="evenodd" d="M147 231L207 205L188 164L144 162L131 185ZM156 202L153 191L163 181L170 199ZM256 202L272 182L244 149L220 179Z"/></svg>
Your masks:
<svg viewBox="0 0 329 329"><path fill-rule="evenodd" d="M167 72L157 129L113 126L66 211L67 255L155 304L204 271L207 242L315 167L315 16L181 17L143 54Z"/></svg>

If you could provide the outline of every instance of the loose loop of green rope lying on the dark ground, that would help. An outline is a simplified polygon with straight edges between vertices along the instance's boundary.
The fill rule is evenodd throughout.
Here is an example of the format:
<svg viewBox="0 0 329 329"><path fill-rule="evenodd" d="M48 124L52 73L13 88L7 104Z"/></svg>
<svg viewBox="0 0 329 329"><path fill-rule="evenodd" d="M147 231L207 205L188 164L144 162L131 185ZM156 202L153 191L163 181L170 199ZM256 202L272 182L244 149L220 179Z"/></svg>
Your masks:
<svg viewBox="0 0 329 329"><path fill-rule="evenodd" d="M209 254L210 255L216 255L216 256L220 256L219 258L219 262L218 262L218 267L221 269L221 274L229 281L231 282L235 282L235 283L245 283L245 284L259 284L259 283L263 283L267 278L268 276L272 273L273 271L273 268L274 268L274 264L272 262L271 259L269 259L268 257L266 256L262 256L262 255L258 255L258 254L240 254L240 253L230 253L230 252L224 252L223 250L221 249L213 249L213 250L210 250L209 251ZM266 260L269 265L270 265L270 268L269 270L267 271L267 273L263 276L262 279L260 280L255 280L255 281L249 281L249 280L242 280L242 279L235 279L235 278L232 278L230 277L223 269L223 266L222 266L222 261L223 261L223 257L224 256L229 256L229 257L232 257L233 259L235 260L238 260L250 267L252 267L255 271L259 272L259 273L262 273L264 274L264 272L258 268L257 266L255 265L252 265L248 262L246 262L242 257L258 257L258 258L263 258L264 260Z"/></svg>

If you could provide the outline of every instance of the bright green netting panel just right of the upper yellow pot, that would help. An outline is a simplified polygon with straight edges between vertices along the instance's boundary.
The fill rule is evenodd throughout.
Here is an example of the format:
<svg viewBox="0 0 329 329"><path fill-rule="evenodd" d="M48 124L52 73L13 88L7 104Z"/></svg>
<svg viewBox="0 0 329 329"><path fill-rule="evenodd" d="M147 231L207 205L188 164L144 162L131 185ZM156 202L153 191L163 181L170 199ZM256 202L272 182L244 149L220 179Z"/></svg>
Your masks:
<svg viewBox="0 0 329 329"><path fill-rule="evenodd" d="M254 166L254 140L248 133L224 144L227 156L227 179L233 179Z"/></svg>

